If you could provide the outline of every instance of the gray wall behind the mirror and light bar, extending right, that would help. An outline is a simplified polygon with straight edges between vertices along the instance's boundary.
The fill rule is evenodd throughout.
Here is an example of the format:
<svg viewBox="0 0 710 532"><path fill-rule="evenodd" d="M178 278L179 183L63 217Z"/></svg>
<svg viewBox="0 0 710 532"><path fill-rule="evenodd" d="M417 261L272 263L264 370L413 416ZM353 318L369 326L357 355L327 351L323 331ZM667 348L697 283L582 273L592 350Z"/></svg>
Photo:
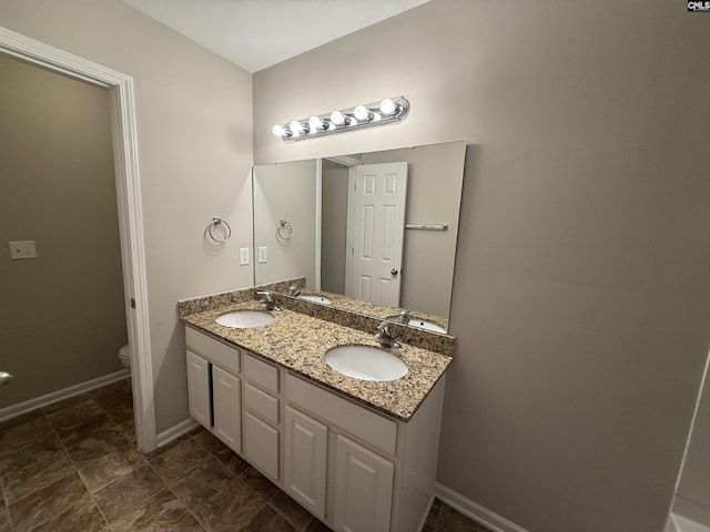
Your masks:
<svg viewBox="0 0 710 532"><path fill-rule="evenodd" d="M257 163L468 141L438 480L531 532L663 528L709 345L708 49L684 2L434 0L254 75ZM396 126L271 134L398 94Z"/></svg>

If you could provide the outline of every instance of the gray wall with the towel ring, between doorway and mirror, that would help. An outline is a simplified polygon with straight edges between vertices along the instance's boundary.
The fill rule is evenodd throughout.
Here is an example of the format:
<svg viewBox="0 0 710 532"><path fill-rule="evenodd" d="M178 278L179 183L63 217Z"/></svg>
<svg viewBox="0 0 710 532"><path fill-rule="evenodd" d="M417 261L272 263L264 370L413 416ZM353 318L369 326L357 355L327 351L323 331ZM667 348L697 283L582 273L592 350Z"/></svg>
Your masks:
<svg viewBox="0 0 710 532"><path fill-rule="evenodd" d="M156 426L187 418L176 301L250 286L252 76L120 0L0 1L0 24L135 84ZM212 216L232 226L215 249Z"/></svg>

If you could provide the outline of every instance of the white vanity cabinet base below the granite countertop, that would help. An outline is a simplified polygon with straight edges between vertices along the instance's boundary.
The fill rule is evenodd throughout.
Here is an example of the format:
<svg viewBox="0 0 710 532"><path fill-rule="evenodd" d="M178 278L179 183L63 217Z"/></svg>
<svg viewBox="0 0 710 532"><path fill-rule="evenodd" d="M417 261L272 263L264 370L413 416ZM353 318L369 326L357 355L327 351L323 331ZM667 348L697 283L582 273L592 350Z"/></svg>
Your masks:
<svg viewBox="0 0 710 532"><path fill-rule="evenodd" d="M434 499L444 378L407 422L191 327L190 415L336 532L417 532Z"/></svg>

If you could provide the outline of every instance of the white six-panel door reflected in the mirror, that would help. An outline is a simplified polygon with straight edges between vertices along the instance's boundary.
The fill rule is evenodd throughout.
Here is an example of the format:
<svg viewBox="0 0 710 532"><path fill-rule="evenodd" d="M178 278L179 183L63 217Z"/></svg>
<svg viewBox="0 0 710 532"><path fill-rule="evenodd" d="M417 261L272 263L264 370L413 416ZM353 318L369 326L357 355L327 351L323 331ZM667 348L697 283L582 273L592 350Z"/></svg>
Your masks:
<svg viewBox="0 0 710 532"><path fill-rule="evenodd" d="M364 164L351 168L346 295L399 306L407 163Z"/></svg>

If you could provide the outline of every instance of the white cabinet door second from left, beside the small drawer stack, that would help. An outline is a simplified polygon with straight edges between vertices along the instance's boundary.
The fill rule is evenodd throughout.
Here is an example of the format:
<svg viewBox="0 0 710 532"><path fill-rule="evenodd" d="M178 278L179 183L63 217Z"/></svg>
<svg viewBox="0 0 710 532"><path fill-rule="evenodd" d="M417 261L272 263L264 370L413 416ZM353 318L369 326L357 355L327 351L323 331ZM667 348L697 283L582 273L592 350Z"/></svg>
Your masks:
<svg viewBox="0 0 710 532"><path fill-rule="evenodd" d="M214 433L230 449L242 452L242 396L240 378L212 366Z"/></svg>

